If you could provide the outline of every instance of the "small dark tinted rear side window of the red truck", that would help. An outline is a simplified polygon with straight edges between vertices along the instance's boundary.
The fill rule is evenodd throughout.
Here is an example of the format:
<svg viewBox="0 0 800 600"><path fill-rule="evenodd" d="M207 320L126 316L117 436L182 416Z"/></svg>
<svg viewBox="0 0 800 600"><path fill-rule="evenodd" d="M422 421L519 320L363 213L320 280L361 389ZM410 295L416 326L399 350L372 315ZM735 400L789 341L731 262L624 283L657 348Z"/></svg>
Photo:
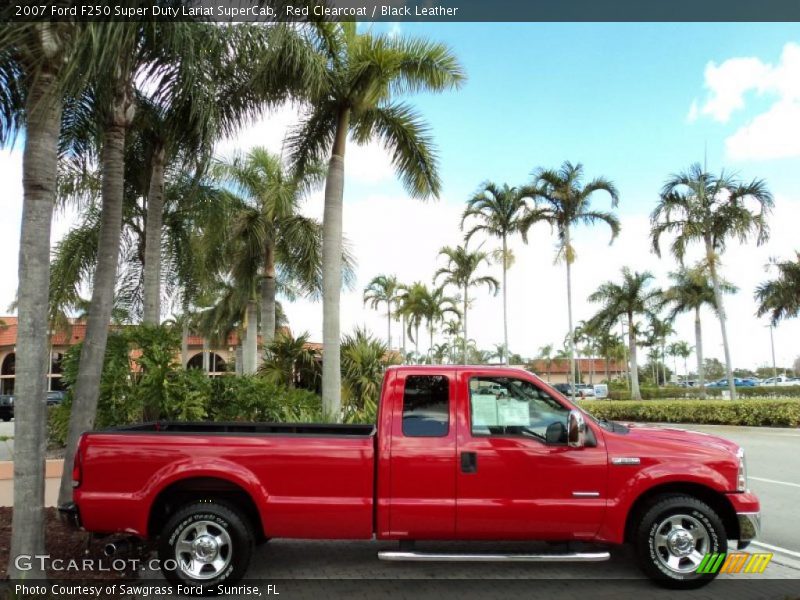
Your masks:
<svg viewBox="0 0 800 600"><path fill-rule="evenodd" d="M444 375L409 375L403 393L403 435L444 437L450 430L450 382Z"/></svg>

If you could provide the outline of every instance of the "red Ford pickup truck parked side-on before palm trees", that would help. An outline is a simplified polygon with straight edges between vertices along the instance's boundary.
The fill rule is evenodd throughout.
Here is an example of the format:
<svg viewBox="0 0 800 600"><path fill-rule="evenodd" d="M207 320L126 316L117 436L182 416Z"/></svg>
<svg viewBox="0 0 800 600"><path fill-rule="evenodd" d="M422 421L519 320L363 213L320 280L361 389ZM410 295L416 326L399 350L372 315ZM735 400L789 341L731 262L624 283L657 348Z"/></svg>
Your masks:
<svg viewBox="0 0 800 600"><path fill-rule="evenodd" d="M245 574L255 544L281 537L398 540L378 557L432 561L596 561L631 543L656 582L698 587L714 577L696 572L705 554L758 533L737 445L595 419L524 370L389 368L377 421L86 433L62 514L88 531L158 538L167 579L209 591ZM417 540L592 551L436 554Z"/></svg>

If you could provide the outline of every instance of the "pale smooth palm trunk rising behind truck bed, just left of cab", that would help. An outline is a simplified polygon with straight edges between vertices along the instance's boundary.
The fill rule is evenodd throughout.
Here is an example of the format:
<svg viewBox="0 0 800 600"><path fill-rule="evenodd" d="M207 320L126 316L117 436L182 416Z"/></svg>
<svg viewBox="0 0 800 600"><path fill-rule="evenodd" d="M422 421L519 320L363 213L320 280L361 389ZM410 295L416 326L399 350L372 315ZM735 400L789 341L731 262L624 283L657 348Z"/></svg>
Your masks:
<svg viewBox="0 0 800 600"><path fill-rule="evenodd" d="M350 130L350 109L339 111L336 135L325 180L322 217L322 408L342 420L342 369L339 301L342 293L342 208L344 151Z"/></svg>

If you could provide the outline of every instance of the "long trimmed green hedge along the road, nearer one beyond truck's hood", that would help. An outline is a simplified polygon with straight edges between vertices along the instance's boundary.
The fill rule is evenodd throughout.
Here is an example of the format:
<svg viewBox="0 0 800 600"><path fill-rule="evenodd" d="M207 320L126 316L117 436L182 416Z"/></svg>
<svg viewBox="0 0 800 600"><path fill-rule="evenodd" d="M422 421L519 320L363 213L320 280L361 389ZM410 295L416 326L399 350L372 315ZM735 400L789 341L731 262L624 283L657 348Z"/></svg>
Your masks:
<svg viewBox="0 0 800 600"><path fill-rule="evenodd" d="M791 400L585 400L589 413L613 421L800 426L800 398Z"/></svg>

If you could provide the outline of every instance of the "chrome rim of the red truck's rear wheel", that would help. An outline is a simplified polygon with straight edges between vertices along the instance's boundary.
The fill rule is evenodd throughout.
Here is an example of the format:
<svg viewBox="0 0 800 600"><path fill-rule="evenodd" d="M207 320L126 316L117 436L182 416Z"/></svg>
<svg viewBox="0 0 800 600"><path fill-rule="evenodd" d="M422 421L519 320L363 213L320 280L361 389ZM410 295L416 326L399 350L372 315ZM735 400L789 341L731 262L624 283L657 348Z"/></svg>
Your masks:
<svg viewBox="0 0 800 600"><path fill-rule="evenodd" d="M225 529L213 521L186 526L175 543L178 569L192 579L213 579L231 563L233 544Z"/></svg>

